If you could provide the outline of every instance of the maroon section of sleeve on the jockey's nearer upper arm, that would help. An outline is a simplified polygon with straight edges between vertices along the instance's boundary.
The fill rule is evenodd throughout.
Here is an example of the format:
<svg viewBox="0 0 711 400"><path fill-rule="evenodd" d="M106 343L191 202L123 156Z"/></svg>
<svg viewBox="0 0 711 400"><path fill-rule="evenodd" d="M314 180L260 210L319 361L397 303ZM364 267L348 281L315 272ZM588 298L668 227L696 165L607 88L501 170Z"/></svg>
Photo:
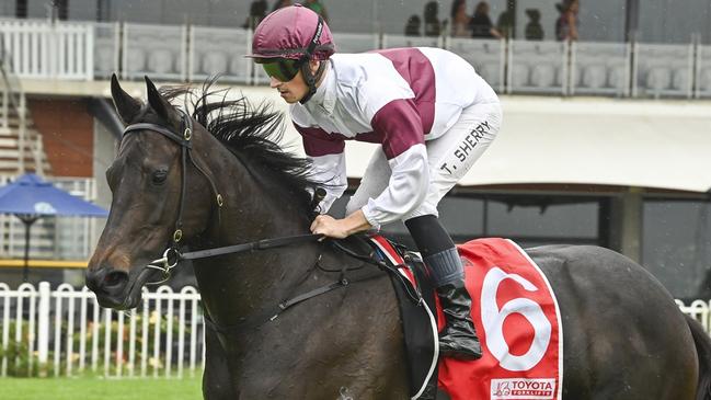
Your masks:
<svg viewBox="0 0 711 400"><path fill-rule="evenodd" d="M412 99L398 99L386 104L372 117L370 126L380 138L388 160L425 142L422 119Z"/></svg>

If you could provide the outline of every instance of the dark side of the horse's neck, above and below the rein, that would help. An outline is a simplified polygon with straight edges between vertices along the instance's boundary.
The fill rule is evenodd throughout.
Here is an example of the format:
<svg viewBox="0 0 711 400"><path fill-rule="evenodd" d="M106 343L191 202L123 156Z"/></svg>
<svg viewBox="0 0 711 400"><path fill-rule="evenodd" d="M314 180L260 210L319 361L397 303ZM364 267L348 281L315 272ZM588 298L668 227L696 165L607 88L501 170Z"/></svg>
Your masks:
<svg viewBox="0 0 711 400"><path fill-rule="evenodd" d="M309 232L309 220L299 209L298 199L270 184L265 172L221 146L205 161L218 172L215 175L225 206L219 225L213 224L200 238L203 247ZM194 266L208 312L218 323L229 324L289 296L317 258L316 243L295 244L195 261Z"/></svg>

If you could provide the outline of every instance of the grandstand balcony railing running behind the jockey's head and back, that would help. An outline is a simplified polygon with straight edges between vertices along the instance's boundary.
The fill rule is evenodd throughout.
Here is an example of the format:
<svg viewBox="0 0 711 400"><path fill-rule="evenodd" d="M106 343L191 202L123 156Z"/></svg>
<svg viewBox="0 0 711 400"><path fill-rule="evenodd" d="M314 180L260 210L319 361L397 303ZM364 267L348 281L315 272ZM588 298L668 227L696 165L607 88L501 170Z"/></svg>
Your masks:
<svg viewBox="0 0 711 400"><path fill-rule="evenodd" d="M20 77L124 79L144 75L264 84L243 55L252 32L196 25L0 20L0 35ZM337 50L401 46L449 49L471 62L500 93L711 98L711 46L649 43L528 42L335 33Z"/></svg>

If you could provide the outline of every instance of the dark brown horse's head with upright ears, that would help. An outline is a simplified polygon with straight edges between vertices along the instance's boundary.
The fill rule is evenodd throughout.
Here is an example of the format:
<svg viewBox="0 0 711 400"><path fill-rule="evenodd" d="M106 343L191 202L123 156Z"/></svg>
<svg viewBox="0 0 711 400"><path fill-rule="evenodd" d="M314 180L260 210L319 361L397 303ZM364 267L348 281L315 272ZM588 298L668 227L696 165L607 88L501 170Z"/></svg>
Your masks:
<svg viewBox="0 0 711 400"><path fill-rule="evenodd" d="M114 104L128 126L106 171L111 214L87 271L87 286L104 307L136 307L142 286L160 274L147 265L169 243L187 239L183 230L199 232L208 219L199 209L209 207L196 206L210 201L210 190L204 179L192 179L197 174L190 153L195 134L204 128L173 107L148 78L146 84L148 103L142 104L112 77Z"/></svg>

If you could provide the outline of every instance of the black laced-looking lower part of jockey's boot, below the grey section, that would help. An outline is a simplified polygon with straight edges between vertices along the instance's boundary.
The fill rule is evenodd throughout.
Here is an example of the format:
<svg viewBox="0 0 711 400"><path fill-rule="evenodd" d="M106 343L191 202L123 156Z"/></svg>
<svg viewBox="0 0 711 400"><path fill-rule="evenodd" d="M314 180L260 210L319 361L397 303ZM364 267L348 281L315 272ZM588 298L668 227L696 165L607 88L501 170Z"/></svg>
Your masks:
<svg viewBox="0 0 711 400"><path fill-rule="evenodd" d="M471 320L471 297L465 281L437 287L447 324L439 334L439 354L459 359L481 358L481 344Z"/></svg>

